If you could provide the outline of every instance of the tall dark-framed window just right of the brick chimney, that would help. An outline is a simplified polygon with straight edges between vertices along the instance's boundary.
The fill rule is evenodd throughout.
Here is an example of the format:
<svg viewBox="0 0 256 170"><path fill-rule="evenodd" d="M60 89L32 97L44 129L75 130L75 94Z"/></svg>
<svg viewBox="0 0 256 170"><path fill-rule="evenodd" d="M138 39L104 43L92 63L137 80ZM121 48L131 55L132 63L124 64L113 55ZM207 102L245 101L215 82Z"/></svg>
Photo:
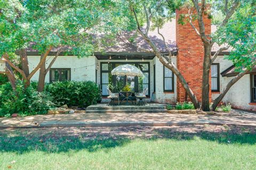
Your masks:
<svg viewBox="0 0 256 170"><path fill-rule="evenodd" d="M213 63L211 66L212 92L220 91L220 64Z"/></svg>

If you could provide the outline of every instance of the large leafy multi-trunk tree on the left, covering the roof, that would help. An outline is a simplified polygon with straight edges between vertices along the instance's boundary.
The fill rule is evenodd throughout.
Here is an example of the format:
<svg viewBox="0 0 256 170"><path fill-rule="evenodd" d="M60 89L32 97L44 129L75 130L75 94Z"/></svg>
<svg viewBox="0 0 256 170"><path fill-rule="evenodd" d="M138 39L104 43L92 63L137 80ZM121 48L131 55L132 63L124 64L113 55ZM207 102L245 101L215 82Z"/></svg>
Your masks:
<svg viewBox="0 0 256 170"><path fill-rule="evenodd" d="M118 21L120 17L126 18L125 13L114 10L120 7L118 5L120 4L111 1L87 0L28 0L15 4L6 1L1 21L7 23L12 31L5 33L1 41L5 45L1 49L4 60L20 72L27 86L30 78L39 70L38 91L41 92L45 75L61 52L72 53L78 58L92 55L104 42L103 39L110 41L119 30L129 29L130 25L127 23L130 22ZM13 12L11 17L8 15L10 11ZM41 54L38 65L31 72L28 67L27 48ZM55 56L46 68L46 57L51 50L55 51ZM7 58L14 51L19 52L21 69Z"/></svg>

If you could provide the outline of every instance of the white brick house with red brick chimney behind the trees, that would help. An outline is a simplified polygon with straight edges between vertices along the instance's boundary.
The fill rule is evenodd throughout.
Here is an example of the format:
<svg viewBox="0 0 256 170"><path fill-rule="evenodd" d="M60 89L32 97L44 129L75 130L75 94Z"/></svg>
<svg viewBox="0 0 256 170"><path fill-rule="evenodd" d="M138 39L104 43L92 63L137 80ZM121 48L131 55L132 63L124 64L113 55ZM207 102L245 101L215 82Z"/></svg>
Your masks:
<svg viewBox="0 0 256 170"><path fill-rule="evenodd" d="M177 10L176 18L186 9ZM206 33L214 31L211 20L205 18ZM202 71L204 49L202 41L194 29L187 23L179 25L178 19L166 23L160 32L165 36L166 44L171 49L172 61L177 65L190 87L201 100ZM163 39L157 34L157 30L150 31L149 37L158 47L161 53L168 54ZM107 86L109 84L132 85L135 92L141 92L148 88L148 100L159 103L176 103L186 100L186 92L178 82L171 70L165 68L156 58L147 42L138 36L135 40L127 38L127 35L118 37L119 42L115 46L109 46L105 53L95 52L93 56L78 59L76 56L59 56L46 75L46 82L58 80L91 80L102 88L103 100L107 100ZM212 54L218 50L218 46L212 48ZM151 52L148 52L151 51ZM28 51L29 67L32 69L39 61L36 52ZM54 51L47 57L46 65L53 59ZM210 101L217 98L226 84L235 75L233 63L225 60L228 51L221 52L211 67L210 77ZM130 63L141 69L143 78L116 77L110 71L120 64ZM223 102L231 103L233 107L256 110L256 74L252 71L239 80L223 98ZM32 80L38 80L39 71Z"/></svg>

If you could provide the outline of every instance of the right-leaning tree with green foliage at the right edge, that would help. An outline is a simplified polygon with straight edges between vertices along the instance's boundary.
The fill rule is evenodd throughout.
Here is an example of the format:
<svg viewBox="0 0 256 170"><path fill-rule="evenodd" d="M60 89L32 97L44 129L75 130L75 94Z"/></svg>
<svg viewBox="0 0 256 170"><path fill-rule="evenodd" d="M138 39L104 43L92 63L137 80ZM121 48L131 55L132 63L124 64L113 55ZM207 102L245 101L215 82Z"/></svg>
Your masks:
<svg viewBox="0 0 256 170"><path fill-rule="evenodd" d="M224 33L224 34L223 34ZM226 34L225 34L226 33ZM226 27L218 30L215 37L219 43L226 43L233 48L228 60L233 61L237 75L230 80L224 90L214 100L212 109L215 110L227 94L228 90L240 78L251 71L256 64L256 7L255 4L243 4L233 18L227 23Z"/></svg>

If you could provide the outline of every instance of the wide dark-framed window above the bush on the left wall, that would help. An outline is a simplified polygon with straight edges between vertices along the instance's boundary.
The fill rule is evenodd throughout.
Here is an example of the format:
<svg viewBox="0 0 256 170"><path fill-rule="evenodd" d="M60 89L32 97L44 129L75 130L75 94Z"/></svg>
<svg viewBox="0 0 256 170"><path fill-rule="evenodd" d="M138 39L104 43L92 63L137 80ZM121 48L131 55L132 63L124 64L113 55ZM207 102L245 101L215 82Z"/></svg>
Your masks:
<svg viewBox="0 0 256 170"><path fill-rule="evenodd" d="M50 82L70 80L70 68L50 69Z"/></svg>

